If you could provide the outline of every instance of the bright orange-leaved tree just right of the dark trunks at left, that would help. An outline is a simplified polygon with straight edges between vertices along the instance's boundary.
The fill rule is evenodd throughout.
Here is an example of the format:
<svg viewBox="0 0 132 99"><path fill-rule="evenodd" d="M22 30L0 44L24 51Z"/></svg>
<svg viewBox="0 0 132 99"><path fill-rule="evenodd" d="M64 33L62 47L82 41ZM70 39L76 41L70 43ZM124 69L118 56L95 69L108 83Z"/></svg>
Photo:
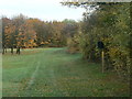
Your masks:
<svg viewBox="0 0 132 99"><path fill-rule="evenodd" d="M23 44L22 46L33 47L36 46L34 40L36 40L36 32L34 31L33 28L33 21L26 20L25 23L19 28L16 41L21 42L21 45Z"/></svg>

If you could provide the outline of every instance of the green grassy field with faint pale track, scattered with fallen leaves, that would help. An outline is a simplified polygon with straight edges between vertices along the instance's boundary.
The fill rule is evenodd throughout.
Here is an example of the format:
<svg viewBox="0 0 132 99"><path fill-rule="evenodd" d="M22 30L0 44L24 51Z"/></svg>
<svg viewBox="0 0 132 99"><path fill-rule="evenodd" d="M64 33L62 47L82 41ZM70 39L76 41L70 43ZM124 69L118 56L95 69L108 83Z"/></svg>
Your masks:
<svg viewBox="0 0 132 99"><path fill-rule="evenodd" d="M3 97L127 97L129 84L65 48L24 50L6 54Z"/></svg>

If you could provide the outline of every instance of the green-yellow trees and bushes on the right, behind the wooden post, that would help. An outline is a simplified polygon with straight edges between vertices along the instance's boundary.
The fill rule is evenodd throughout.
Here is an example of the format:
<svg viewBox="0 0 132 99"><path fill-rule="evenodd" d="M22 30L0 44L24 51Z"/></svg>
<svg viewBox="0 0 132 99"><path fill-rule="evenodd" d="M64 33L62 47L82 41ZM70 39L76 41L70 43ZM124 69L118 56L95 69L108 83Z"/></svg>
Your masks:
<svg viewBox="0 0 132 99"><path fill-rule="evenodd" d="M116 70L120 77L130 78L131 29L130 3L96 3L92 13L84 13L81 33L69 40L69 51L80 51L84 58L101 61L98 42L105 44L105 70ZM92 7L96 7L92 6Z"/></svg>

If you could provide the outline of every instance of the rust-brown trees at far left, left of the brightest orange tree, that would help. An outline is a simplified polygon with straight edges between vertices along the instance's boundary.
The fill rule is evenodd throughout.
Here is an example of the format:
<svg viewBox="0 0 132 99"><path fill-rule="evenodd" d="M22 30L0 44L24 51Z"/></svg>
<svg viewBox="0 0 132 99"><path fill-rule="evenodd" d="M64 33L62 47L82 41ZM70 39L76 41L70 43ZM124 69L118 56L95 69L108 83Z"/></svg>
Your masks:
<svg viewBox="0 0 132 99"><path fill-rule="evenodd" d="M3 54L8 48L11 48L11 53L13 54L14 47L21 47L20 45L20 30L22 24L25 22L25 16L20 14L12 20L8 18L2 18L2 45L3 45Z"/></svg>

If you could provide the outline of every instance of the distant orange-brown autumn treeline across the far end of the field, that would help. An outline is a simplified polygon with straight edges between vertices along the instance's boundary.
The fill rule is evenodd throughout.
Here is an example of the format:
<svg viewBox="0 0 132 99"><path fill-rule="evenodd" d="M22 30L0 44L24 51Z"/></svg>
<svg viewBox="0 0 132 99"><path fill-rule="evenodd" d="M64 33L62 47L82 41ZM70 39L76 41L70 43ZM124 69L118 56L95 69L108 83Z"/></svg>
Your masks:
<svg viewBox="0 0 132 99"><path fill-rule="evenodd" d="M20 14L12 19L2 18L2 47L13 48L20 53L20 48L29 47L61 47L66 46L67 37L78 31L78 23L74 20L41 21Z"/></svg>

